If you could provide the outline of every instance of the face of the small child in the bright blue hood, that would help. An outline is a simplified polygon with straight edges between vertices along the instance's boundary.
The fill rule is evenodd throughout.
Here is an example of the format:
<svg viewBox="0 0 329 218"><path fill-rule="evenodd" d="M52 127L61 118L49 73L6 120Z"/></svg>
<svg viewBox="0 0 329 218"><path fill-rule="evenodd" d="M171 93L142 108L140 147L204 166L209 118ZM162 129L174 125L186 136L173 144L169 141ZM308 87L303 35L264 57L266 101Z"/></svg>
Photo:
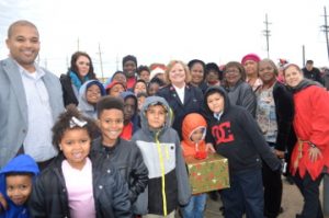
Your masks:
<svg viewBox="0 0 329 218"><path fill-rule="evenodd" d="M32 192L31 175L7 175L7 195L18 206L23 205Z"/></svg>

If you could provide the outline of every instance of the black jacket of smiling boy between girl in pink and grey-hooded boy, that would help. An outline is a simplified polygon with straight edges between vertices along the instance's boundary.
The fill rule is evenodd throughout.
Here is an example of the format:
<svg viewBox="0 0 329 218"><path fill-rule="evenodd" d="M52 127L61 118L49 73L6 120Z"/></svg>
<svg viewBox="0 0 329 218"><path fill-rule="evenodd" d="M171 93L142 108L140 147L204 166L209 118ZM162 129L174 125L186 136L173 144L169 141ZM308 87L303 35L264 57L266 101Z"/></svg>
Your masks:
<svg viewBox="0 0 329 218"><path fill-rule="evenodd" d="M114 147L106 148L99 137L93 140L91 152L101 154L107 165L120 171L128 184L131 203L135 203L148 183L148 170L137 145L118 138Z"/></svg>

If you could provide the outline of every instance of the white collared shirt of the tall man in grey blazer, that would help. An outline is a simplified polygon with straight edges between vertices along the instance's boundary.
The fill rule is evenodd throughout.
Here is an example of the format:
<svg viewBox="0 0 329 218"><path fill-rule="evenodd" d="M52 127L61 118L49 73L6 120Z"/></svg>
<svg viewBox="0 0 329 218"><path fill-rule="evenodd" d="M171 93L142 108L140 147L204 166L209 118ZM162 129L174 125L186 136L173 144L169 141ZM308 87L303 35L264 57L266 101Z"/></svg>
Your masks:
<svg viewBox="0 0 329 218"><path fill-rule="evenodd" d="M57 150L52 144L54 121L48 91L43 81L45 72L37 66L35 68L35 72L29 72L19 65L27 103L27 133L23 146L25 153L36 162L42 162L54 158Z"/></svg>

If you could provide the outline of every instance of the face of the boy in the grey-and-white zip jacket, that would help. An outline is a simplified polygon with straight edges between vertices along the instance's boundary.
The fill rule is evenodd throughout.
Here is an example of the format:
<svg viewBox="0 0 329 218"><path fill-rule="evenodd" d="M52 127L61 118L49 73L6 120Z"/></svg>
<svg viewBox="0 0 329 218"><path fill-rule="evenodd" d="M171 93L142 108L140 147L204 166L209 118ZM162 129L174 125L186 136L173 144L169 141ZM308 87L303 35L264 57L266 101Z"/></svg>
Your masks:
<svg viewBox="0 0 329 218"><path fill-rule="evenodd" d="M148 126L154 129L161 128L166 121L166 110L162 105L149 106L146 111Z"/></svg>

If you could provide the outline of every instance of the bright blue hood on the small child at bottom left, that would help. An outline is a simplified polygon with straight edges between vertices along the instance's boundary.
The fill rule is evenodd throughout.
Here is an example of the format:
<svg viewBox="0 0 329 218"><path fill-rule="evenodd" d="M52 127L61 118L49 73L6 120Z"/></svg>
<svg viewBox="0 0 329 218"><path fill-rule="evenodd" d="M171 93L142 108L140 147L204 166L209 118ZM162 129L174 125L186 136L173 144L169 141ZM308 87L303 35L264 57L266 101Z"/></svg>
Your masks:
<svg viewBox="0 0 329 218"><path fill-rule="evenodd" d="M13 158L0 171L0 192L4 195L12 210L18 210L20 206L15 206L7 196L5 191L5 174L7 173L32 173L35 176L39 173L36 162L27 154L20 154Z"/></svg>

